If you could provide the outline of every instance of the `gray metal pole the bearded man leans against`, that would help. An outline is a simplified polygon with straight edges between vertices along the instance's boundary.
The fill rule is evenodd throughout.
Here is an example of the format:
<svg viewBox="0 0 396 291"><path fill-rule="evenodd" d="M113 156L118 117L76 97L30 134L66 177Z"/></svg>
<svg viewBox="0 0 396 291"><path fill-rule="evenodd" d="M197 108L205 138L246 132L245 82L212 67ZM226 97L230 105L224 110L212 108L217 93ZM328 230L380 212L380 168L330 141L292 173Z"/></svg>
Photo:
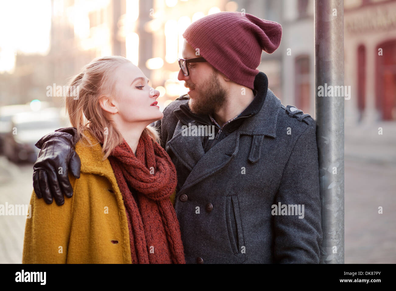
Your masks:
<svg viewBox="0 0 396 291"><path fill-rule="evenodd" d="M344 3L315 0L314 6L315 119L323 230L320 263L343 264L344 91L339 96L341 89L334 86L344 86ZM329 86L336 90L331 92Z"/></svg>

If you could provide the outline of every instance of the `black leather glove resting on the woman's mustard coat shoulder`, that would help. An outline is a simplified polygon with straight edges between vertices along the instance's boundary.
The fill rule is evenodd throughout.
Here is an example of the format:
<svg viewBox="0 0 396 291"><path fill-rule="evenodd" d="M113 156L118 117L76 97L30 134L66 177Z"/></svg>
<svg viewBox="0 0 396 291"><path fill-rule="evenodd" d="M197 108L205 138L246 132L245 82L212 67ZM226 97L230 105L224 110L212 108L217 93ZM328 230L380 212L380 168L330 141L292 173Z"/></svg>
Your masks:
<svg viewBox="0 0 396 291"><path fill-rule="evenodd" d="M47 204L54 198L57 205L63 205L63 193L68 198L73 195L68 170L80 178L81 161L74 151L79 138L74 127L66 127L44 135L36 143L41 150L33 165L33 188L37 197L44 198Z"/></svg>

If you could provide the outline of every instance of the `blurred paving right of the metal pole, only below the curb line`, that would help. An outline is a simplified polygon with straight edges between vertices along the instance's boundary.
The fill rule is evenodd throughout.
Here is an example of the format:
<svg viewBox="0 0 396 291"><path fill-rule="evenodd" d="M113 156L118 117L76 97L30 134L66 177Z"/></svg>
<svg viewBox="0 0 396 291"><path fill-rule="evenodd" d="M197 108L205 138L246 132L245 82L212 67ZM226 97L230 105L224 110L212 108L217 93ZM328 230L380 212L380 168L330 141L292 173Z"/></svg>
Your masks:
<svg viewBox="0 0 396 291"><path fill-rule="evenodd" d="M395 178L395 165L345 160L346 264L396 263Z"/></svg>

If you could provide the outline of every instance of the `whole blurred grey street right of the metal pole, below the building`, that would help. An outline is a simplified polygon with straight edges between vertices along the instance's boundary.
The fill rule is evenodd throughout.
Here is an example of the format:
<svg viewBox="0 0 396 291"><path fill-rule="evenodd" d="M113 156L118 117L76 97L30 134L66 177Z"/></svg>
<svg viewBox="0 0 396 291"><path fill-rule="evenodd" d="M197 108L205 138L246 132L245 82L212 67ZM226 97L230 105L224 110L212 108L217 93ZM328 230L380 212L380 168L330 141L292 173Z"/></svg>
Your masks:
<svg viewBox="0 0 396 291"><path fill-rule="evenodd" d="M378 134L382 127L383 134ZM396 263L396 128L345 124L345 263ZM383 207L383 214L378 207Z"/></svg>

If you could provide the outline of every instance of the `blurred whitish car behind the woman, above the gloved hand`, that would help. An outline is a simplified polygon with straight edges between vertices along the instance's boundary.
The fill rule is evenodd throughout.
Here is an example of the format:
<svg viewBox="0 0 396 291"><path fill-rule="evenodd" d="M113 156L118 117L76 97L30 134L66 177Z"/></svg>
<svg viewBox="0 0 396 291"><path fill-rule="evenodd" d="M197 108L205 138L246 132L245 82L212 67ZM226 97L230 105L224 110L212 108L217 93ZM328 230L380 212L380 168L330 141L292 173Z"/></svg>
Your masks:
<svg viewBox="0 0 396 291"><path fill-rule="evenodd" d="M11 118L4 140L4 154L12 162L34 162L40 149L34 146L47 133L63 127L59 108L21 112Z"/></svg>

